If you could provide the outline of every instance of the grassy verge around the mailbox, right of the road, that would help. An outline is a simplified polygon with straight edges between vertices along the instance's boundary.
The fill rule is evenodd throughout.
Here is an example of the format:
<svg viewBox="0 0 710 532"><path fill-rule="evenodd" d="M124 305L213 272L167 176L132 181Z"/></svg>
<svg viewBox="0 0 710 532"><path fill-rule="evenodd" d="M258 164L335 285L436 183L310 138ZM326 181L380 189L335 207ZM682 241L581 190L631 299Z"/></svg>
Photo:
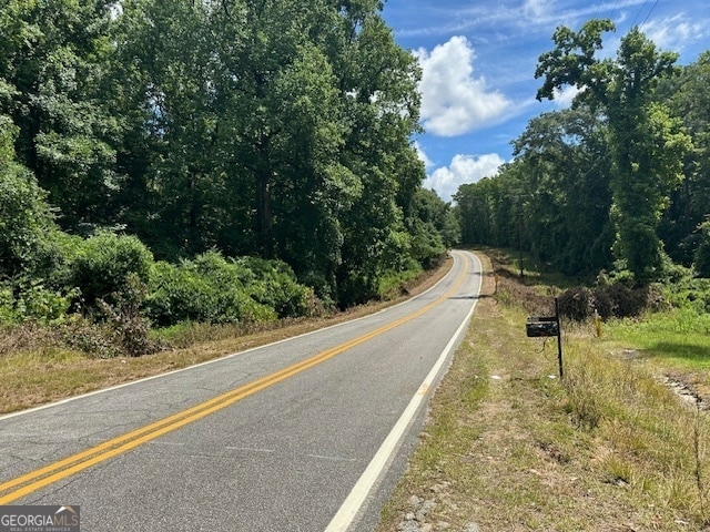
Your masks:
<svg viewBox="0 0 710 532"><path fill-rule="evenodd" d="M478 304L378 531L710 530L710 420L666 386L678 359L643 351L668 338L660 325L639 330L640 345L623 327L642 321L601 338L592 324L564 324L560 381L556 342L525 336L545 275L500 275L494 289L488 276L493 297ZM702 340L697 323L665 319Z"/></svg>

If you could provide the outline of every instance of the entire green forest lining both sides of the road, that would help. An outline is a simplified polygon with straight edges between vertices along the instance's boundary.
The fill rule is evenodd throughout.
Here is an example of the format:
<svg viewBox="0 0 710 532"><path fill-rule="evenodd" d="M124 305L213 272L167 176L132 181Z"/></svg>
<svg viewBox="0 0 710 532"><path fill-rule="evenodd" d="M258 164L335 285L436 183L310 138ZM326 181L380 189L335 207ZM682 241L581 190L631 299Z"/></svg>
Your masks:
<svg viewBox="0 0 710 532"><path fill-rule="evenodd" d="M113 324L149 352L151 327L386 297L457 244L710 277L710 52L558 28L537 98L572 106L452 205L423 187L420 70L378 0L0 3L0 325Z"/></svg>

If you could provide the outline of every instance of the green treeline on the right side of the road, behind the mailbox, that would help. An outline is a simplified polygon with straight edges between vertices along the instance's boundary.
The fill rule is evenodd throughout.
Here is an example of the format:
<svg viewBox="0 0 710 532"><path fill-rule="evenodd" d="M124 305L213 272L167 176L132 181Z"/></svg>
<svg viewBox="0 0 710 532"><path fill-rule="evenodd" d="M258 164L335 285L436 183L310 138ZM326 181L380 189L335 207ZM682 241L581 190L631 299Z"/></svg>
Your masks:
<svg viewBox="0 0 710 532"><path fill-rule="evenodd" d="M541 55L538 99L571 109L529 122L499 175L456 194L463 241L534 254L569 275L643 285L710 277L710 52L687 66L638 29L597 59L609 21L560 28Z"/></svg>

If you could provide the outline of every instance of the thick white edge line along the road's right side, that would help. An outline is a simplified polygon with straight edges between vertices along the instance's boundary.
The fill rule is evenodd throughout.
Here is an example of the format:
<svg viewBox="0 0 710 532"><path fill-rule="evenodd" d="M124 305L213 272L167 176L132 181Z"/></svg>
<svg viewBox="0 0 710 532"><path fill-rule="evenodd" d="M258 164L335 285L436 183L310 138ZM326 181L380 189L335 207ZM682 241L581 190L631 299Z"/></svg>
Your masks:
<svg viewBox="0 0 710 532"><path fill-rule="evenodd" d="M474 258L480 266L480 260L478 259L478 257L474 255ZM480 266L480 272L483 274L483 266ZM483 279L478 285L477 296L480 296L481 287L483 287ZM402 412L402 416L393 427L392 431L389 432L389 434L387 434L387 438L385 438L385 441L382 443L382 446L379 447L379 449L371 460L369 464L367 466L367 469L365 469L361 478L357 480L357 482L353 487L353 490L347 495L347 499L345 499L345 502L343 502L343 504L341 505L335 516L331 520L331 523L325 529L325 532L345 532L355 520L355 516L363 508L365 500L369 495L377 480L383 474L392 456L399 447L399 443L405 434L405 431L409 427L409 423L414 419L414 416L416 415L417 410L424 402L424 399L427 396L427 391L432 388L442 367L448 359L448 356L452 349L454 349L454 347L458 342L460 335L468 327L468 323L471 316L474 315L474 310L476 309L477 303L478 303L478 299L474 300L474 305L471 306L470 311L468 313L466 318L464 318L464 320L462 321L462 325L458 327L458 329L456 330L452 339L448 341L448 344L444 348L444 351L442 351L442 355L439 355L438 360L436 361L436 364L434 365L429 374L424 379L424 382L422 382L422 386L419 387L417 392L414 395L414 397L409 401L409 405L407 406L407 408L404 410L404 412Z"/></svg>

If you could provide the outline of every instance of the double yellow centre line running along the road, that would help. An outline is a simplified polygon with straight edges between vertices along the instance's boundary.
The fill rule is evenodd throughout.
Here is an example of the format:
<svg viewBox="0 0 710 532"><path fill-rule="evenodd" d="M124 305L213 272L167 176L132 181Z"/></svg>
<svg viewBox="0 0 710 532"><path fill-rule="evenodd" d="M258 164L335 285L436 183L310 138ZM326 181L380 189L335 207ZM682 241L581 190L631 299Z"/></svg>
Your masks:
<svg viewBox="0 0 710 532"><path fill-rule="evenodd" d="M286 380L296 374L317 366L318 364L322 364L335 357L336 355L341 355L342 352L345 352L353 347L364 344L365 341L368 341L384 332L387 332L407 321L422 316L423 314L426 314L432 308L440 305L447 297L449 297L449 295L458 289L458 287L464 283L467 269L468 258L466 258L465 260L465 267L462 275L446 294L444 294L442 297L430 303L429 305L420 308L416 313L410 314L409 316L400 318L397 321L393 321L392 324L385 325L376 330L341 344L339 346L326 349L325 351L302 360L301 362L288 366L287 368L267 375L266 377L262 377L261 379L252 381L248 385L244 385L232 391L210 399L209 401L204 401L200 405L196 405L195 407L189 408L187 410L183 410L175 415L169 416L161 419L160 421L155 421L154 423L146 424L131 432L126 432L125 434L108 440L103 443L100 443L99 446L94 446L63 460L59 460L44 468L40 468L30 473L3 482L2 484L0 484L0 493L6 494L0 497L0 505L8 504L41 488L71 477L72 474L79 473L80 471L83 471L92 466L101 463L113 457L130 451L131 449L134 449L143 443L154 440L161 436L178 430L181 427L184 427L194 421L199 421L200 419L203 419L211 413L222 410L230 405L233 405L251 395L256 393L257 391Z"/></svg>

